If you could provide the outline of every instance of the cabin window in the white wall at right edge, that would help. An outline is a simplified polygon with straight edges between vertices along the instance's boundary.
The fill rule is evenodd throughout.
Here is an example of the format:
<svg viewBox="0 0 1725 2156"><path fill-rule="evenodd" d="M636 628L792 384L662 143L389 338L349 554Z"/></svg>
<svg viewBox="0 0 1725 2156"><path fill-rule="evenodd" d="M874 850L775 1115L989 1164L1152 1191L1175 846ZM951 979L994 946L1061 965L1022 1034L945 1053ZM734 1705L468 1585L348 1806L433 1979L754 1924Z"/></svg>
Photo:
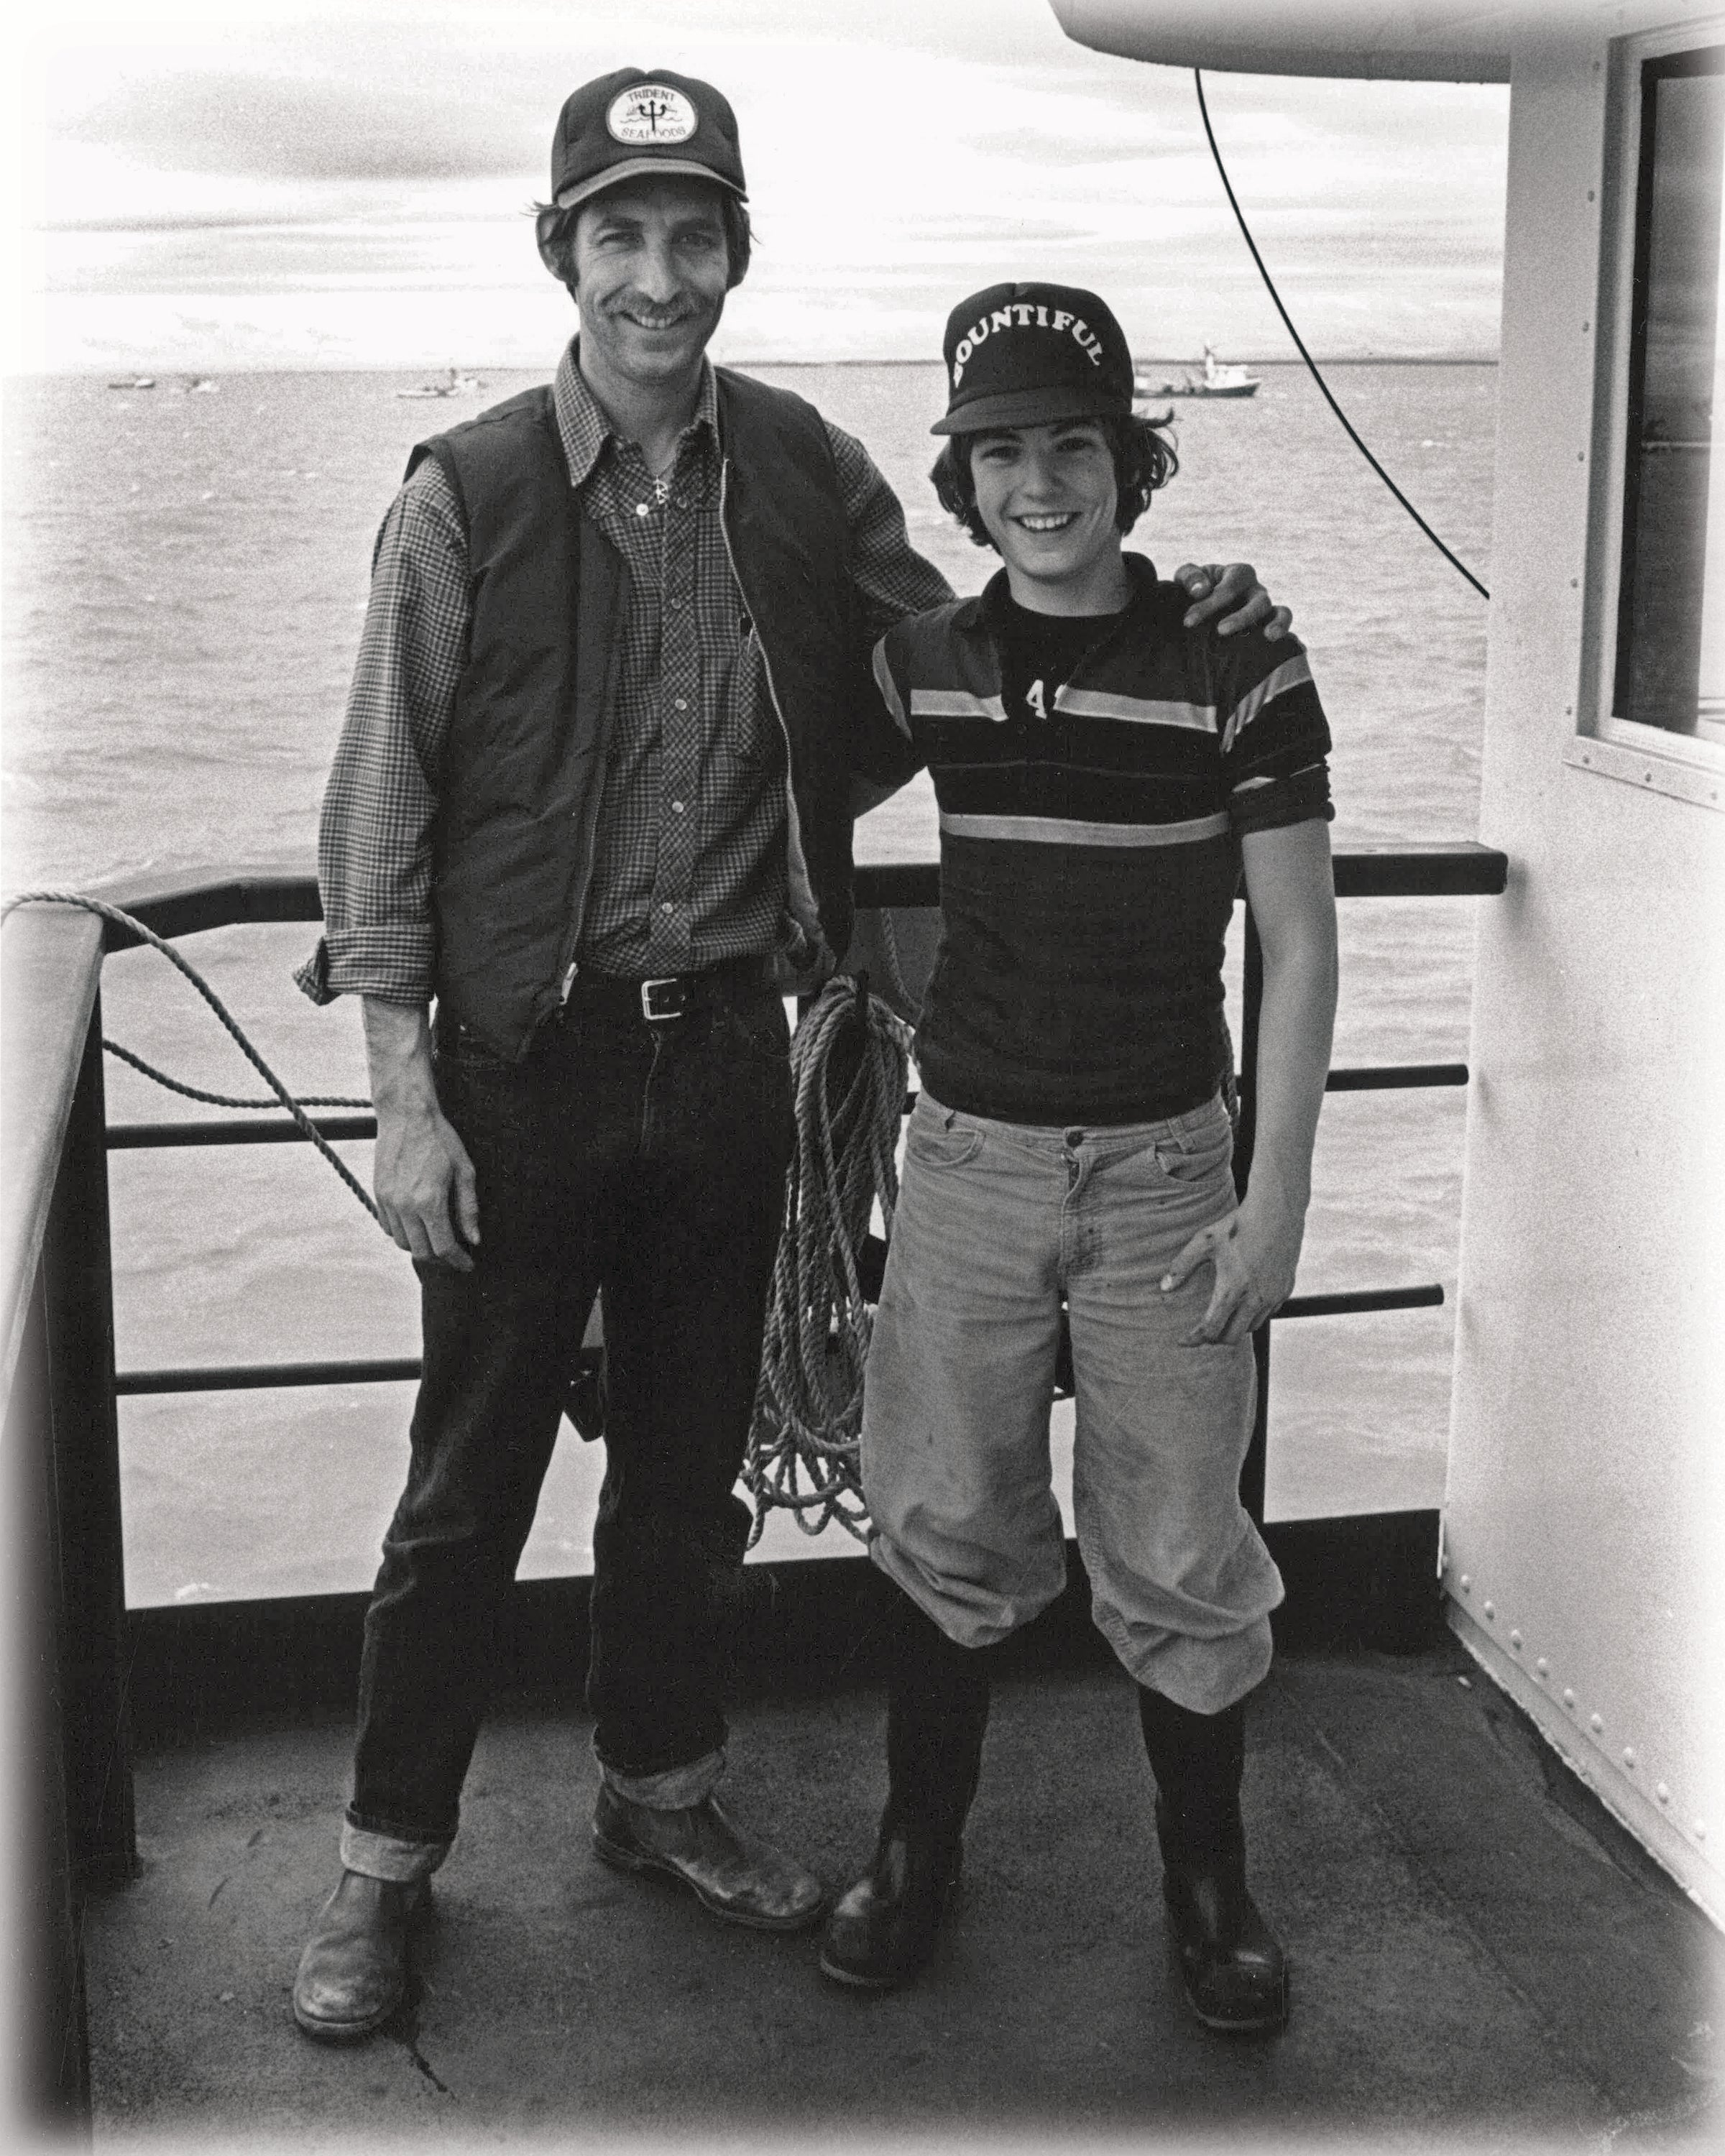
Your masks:
<svg viewBox="0 0 1725 2156"><path fill-rule="evenodd" d="M1643 58L1626 86L1639 144L1611 711L1725 744L1725 47Z"/></svg>

